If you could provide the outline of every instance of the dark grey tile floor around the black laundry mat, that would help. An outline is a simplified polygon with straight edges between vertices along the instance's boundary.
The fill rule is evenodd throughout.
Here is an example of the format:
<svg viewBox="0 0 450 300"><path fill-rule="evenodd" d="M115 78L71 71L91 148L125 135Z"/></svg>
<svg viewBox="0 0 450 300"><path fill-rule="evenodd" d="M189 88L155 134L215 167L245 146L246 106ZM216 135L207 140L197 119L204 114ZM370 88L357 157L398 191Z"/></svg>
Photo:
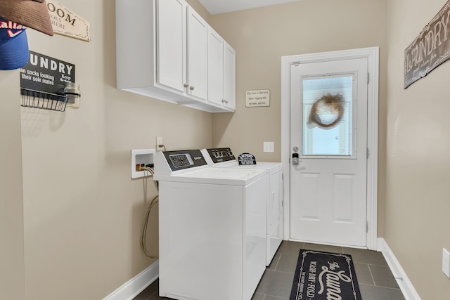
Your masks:
<svg viewBox="0 0 450 300"><path fill-rule="evenodd" d="M381 252L283 241L266 268L252 300L288 300L300 249L350 254L363 300L405 300ZM167 299L158 296L158 280L134 300Z"/></svg>

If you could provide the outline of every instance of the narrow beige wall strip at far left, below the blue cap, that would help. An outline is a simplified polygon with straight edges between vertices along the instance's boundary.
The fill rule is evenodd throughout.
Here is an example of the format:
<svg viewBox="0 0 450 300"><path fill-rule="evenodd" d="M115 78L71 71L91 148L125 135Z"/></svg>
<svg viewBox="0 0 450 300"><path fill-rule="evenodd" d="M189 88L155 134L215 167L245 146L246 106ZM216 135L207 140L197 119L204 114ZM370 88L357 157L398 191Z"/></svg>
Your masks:
<svg viewBox="0 0 450 300"><path fill-rule="evenodd" d="M0 71L0 299L25 299L19 72Z"/></svg>

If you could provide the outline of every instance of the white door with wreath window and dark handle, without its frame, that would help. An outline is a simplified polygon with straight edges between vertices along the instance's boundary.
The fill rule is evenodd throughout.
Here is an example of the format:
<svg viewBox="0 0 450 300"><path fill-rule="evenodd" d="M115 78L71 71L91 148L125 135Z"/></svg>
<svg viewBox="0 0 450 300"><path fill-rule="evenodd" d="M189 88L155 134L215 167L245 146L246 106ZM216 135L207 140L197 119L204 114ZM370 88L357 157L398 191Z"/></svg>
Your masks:
<svg viewBox="0 0 450 300"><path fill-rule="evenodd" d="M367 82L367 58L290 67L292 240L366 247Z"/></svg>

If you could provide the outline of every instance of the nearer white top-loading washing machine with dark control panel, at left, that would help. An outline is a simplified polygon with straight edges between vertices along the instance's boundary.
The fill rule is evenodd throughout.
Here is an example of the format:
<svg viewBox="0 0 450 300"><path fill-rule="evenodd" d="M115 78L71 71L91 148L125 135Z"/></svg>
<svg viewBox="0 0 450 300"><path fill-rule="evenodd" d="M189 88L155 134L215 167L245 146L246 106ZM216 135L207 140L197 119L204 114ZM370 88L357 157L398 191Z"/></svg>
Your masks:
<svg viewBox="0 0 450 300"><path fill-rule="evenodd" d="M250 300L266 267L266 197L260 169L216 168L200 150L157 152L159 294Z"/></svg>

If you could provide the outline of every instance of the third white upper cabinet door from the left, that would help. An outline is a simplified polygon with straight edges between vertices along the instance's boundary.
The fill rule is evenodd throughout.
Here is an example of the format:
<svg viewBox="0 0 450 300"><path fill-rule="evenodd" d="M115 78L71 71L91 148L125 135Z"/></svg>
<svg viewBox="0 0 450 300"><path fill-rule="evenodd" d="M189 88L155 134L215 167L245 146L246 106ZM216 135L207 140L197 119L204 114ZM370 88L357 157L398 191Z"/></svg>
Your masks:
<svg viewBox="0 0 450 300"><path fill-rule="evenodd" d="M224 39L208 30L208 100L222 105L224 100Z"/></svg>

